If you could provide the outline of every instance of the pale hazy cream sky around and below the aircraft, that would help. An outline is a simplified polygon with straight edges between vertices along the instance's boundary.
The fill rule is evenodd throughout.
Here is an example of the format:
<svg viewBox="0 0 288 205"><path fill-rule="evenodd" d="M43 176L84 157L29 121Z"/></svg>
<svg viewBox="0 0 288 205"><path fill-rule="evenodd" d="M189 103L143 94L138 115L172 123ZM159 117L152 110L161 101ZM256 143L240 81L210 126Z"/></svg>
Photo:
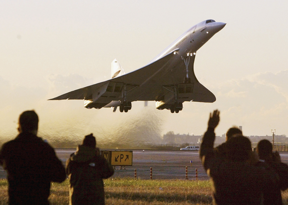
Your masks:
<svg viewBox="0 0 288 205"><path fill-rule="evenodd" d="M168 131L202 135L220 110L216 135L288 136L287 1L0 1L0 138L14 138L19 114L34 109L39 136L62 143L94 133L98 142L153 142ZM47 101L147 65L193 25L227 23L197 51L195 75L214 103L185 102L178 114L155 102L128 113ZM135 137L137 136L137 137Z"/></svg>

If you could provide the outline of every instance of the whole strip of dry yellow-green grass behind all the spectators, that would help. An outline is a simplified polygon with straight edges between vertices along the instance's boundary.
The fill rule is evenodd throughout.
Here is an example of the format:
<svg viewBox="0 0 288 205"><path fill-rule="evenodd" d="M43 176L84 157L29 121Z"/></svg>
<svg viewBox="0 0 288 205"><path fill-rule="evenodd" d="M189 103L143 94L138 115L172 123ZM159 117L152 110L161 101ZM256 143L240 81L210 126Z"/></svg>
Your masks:
<svg viewBox="0 0 288 205"><path fill-rule="evenodd" d="M212 204L211 185L202 180L141 180L110 178L104 180L108 205L184 205ZM51 186L50 204L69 203L68 180ZM0 179L0 205L8 204L8 183ZM282 193L283 204L288 205L288 191Z"/></svg>

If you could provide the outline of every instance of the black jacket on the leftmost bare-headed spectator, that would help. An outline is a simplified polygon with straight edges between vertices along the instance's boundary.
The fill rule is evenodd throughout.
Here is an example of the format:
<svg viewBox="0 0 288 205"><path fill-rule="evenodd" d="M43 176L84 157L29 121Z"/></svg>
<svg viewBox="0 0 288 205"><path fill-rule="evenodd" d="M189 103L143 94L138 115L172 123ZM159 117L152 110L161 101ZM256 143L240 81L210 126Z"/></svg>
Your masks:
<svg viewBox="0 0 288 205"><path fill-rule="evenodd" d="M0 164L7 171L9 204L49 204L50 182L63 182L65 169L54 149L31 133L5 143Z"/></svg>

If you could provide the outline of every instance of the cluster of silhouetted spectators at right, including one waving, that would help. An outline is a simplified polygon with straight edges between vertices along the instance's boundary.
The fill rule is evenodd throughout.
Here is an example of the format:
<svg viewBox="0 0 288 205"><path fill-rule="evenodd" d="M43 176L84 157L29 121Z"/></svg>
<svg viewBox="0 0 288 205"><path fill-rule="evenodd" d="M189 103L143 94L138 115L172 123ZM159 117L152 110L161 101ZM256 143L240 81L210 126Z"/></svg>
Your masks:
<svg viewBox="0 0 288 205"><path fill-rule="evenodd" d="M281 162L279 153L272 152L268 140L261 140L258 158L249 138L237 128L227 135L225 143L213 148L219 115L218 110L210 113L200 146L200 159L212 181L213 204L282 204L281 190L288 188L288 166Z"/></svg>

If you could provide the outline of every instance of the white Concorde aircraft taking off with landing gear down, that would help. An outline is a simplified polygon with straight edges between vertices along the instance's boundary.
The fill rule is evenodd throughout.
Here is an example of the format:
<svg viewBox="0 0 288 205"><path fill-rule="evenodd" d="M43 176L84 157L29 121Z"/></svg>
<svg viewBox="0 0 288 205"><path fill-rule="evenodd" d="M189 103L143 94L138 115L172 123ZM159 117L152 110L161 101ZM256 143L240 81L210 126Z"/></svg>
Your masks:
<svg viewBox="0 0 288 205"><path fill-rule="evenodd" d="M183 33L148 65L125 74L117 59L111 63L111 79L49 100L83 100L84 107L117 107L128 112L133 101L156 101L159 110L178 113L183 102L214 102L214 94L194 73L196 52L226 23L202 21Z"/></svg>

